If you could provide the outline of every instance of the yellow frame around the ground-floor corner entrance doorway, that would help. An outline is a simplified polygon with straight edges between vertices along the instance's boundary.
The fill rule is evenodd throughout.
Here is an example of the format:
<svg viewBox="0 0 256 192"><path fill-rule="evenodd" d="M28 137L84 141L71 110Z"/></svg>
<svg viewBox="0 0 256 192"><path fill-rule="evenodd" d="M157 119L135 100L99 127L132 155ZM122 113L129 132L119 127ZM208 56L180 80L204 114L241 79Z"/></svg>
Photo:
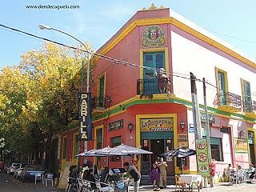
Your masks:
<svg viewBox="0 0 256 192"><path fill-rule="evenodd" d="M140 119L141 118L174 118L174 149L178 148L178 126L177 126L177 114L137 114L136 115L136 147L141 146L141 131L140 131ZM138 169L141 170L141 160L138 162ZM174 161L175 173L178 173L178 166Z"/></svg>

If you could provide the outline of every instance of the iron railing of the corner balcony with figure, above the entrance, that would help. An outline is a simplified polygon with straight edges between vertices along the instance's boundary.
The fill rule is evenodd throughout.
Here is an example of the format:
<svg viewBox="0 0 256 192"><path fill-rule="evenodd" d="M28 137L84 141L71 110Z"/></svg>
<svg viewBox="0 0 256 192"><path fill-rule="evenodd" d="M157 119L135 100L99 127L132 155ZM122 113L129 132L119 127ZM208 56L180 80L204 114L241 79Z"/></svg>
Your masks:
<svg viewBox="0 0 256 192"><path fill-rule="evenodd" d="M144 78L137 81L137 94L167 94L170 91L170 78Z"/></svg>

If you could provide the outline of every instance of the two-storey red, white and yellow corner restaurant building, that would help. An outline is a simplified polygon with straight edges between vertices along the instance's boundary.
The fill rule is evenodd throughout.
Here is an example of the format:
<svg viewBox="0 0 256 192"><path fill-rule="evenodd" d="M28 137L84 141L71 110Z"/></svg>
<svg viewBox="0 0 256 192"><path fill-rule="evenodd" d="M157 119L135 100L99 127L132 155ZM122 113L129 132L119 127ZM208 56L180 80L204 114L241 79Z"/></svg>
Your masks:
<svg viewBox="0 0 256 192"><path fill-rule="evenodd" d="M94 139L88 150L121 143L141 146L154 154L142 155L138 167L149 175L152 163L167 150L194 149L190 72L206 78L210 118L210 147L217 172L229 164L255 164L256 62L175 14L151 6L137 11L98 51L124 65L97 58L92 86ZM170 94L162 94L154 70L170 78ZM183 78L182 78L183 77ZM197 82L202 135L205 134L202 82ZM164 92L164 91L163 91ZM106 159L94 158L102 166ZM110 166L122 166L110 158ZM125 158L124 161L130 161ZM178 159L170 161L167 175L180 174ZM197 171L196 158L186 158L182 173Z"/></svg>

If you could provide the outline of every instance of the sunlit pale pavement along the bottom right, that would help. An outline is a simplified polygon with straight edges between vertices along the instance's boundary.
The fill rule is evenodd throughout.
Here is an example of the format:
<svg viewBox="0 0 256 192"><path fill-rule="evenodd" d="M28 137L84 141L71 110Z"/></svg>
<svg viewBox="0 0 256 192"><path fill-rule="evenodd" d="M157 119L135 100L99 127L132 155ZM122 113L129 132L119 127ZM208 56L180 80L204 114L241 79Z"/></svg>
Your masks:
<svg viewBox="0 0 256 192"><path fill-rule="evenodd" d="M153 186L140 186L139 191L149 192L154 191ZM160 191L175 191L175 186L167 186L166 189L160 190ZM178 190L177 190L178 191ZM193 190L198 191L194 188ZM221 182L218 184L215 184L213 188L202 188L200 189L202 192L255 192L256 191L256 182L250 183L242 183L242 184L232 184L230 182Z"/></svg>

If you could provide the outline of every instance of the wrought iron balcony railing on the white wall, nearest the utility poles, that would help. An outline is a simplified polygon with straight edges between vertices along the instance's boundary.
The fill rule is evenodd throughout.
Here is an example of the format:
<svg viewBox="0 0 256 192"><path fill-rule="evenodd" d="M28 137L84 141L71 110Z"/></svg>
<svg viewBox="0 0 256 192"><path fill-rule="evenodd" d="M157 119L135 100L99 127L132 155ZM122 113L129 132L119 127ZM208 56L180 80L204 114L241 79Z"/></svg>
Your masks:
<svg viewBox="0 0 256 192"><path fill-rule="evenodd" d="M218 106L233 106L237 109L242 108L242 99L240 95L230 92L222 92L216 94L214 105Z"/></svg>

